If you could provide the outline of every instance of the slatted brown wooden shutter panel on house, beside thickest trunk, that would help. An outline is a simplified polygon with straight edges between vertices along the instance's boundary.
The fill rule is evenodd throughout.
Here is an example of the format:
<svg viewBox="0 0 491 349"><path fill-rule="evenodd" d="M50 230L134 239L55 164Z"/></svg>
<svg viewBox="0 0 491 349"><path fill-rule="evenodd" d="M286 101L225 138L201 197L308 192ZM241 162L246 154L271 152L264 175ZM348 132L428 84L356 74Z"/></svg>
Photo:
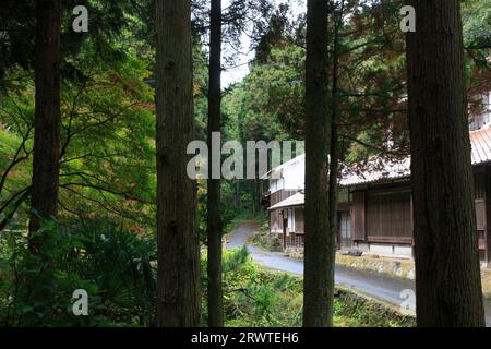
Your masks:
<svg viewBox="0 0 491 349"><path fill-rule="evenodd" d="M366 212L368 241L412 241L410 192L369 193Z"/></svg>

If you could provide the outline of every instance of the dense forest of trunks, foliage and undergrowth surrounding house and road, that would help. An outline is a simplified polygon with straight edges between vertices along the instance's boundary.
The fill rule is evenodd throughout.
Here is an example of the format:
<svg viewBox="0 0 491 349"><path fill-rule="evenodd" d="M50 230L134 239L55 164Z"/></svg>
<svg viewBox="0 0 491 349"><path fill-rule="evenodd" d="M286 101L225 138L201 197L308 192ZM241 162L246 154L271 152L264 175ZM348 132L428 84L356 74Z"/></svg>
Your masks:
<svg viewBox="0 0 491 349"><path fill-rule="evenodd" d="M469 139L489 0L4 0L0 23L0 326L489 325ZM248 246L283 243L274 155L237 151L272 141L304 142L301 275ZM340 179L409 156L407 314L335 266Z"/></svg>

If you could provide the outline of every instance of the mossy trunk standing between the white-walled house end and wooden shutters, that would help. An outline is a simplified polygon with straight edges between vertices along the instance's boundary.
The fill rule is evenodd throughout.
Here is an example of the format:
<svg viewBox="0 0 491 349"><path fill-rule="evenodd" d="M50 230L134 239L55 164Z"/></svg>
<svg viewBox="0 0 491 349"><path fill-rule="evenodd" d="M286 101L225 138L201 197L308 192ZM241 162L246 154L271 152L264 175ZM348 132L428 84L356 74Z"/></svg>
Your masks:
<svg viewBox="0 0 491 349"><path fill-rule="evenodd" d="M333 324L336 246L328 205L327 8L326 0L307 2L303 326L308 327Z"/></svg>

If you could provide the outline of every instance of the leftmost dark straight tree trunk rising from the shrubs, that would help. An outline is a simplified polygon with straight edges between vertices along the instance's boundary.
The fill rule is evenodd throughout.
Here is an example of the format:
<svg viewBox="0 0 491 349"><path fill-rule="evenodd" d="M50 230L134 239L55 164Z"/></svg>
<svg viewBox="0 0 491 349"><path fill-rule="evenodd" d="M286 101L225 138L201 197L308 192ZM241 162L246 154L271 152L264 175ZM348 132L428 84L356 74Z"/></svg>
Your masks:
<svg viewBox="0 0 491 349"><path fill-rule="evenodd" d="M36 2L36 111L29 232L57 214L60 154L61 0ZM39 249L40 241L34 242ZM32 245L33 246L33 245Z"/></svg>

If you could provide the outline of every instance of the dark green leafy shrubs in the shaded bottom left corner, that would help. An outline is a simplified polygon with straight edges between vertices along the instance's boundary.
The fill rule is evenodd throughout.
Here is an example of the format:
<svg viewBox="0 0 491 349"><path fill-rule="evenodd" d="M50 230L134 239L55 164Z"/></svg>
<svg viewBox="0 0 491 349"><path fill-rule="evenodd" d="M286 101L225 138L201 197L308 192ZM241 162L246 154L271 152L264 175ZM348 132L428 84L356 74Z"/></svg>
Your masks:
<svg viewBox="0 0 491 349"><path fill-rule="evenodd" d="M155 239L103 221L44 221L26 238L1 241L3 326L117 326L155 323ZM72 312L88 293L88 316Z"/></svg>

